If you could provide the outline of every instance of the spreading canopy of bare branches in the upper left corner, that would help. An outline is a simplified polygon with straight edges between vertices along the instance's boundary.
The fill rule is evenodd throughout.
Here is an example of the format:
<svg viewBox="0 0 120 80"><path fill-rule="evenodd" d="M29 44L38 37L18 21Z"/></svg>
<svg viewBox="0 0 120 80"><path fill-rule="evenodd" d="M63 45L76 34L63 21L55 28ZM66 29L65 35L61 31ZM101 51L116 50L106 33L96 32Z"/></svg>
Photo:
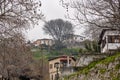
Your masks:
<svg viewBox="0 0 120 80"><path fill-rule="evenodd" d="M0 0L0 37L28 29L42 18L39 0Z"/></svg>

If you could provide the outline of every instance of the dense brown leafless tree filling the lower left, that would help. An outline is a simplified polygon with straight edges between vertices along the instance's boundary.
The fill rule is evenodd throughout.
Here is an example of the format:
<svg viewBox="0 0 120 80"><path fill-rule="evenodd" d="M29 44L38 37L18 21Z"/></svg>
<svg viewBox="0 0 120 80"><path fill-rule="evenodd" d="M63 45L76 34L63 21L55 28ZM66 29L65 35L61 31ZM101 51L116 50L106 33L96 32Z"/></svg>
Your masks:
<svg viewBox="0 0 120 80"><path fill-rule="evenodd" d="M30 49L21 34L0 41L0 74L6 79L22 74L31 61Z"/></svg>

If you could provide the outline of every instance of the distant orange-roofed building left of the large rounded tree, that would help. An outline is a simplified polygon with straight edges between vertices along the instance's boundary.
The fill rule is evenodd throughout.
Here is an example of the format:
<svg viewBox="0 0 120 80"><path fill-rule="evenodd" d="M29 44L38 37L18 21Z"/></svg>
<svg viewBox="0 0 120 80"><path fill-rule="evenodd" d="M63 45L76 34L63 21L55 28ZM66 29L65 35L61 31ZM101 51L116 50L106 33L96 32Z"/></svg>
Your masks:
<svg viewBox="0 0 120 80"><path fill-rule="evenodd" d="M52 46L53 44L54 41L52 39L38 39L35 42L33 42L34 46L40 46L40 45Z"/></svg>

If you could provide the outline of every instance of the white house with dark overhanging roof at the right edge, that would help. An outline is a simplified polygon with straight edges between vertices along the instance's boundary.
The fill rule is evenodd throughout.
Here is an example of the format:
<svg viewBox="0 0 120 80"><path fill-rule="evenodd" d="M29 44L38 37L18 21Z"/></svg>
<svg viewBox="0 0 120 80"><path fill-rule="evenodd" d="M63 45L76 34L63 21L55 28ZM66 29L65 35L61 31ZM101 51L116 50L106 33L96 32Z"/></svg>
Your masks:
<svg viewBox="0 0 120 80"><path fill-rule="evenodd" d="M120 31L103 29L99 40L101 53L112 52L120 48Z"/></svg>

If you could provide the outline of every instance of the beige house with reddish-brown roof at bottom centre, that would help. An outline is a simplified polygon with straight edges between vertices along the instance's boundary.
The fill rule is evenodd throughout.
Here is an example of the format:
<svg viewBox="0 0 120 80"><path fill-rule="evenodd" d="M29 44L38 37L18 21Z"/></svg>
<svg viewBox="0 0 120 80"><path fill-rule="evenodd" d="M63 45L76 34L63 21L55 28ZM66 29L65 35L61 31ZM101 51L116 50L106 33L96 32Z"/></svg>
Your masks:
<svg viewBox="0 0 120 80"><path fill-rule="evenodd" d="M57 68L56 63L59 63L58 74L59 78L73 72L72 67L75 66L76 60L70 56L58 56L49 59L49 76L50 80L56 80Z"/></svg>

